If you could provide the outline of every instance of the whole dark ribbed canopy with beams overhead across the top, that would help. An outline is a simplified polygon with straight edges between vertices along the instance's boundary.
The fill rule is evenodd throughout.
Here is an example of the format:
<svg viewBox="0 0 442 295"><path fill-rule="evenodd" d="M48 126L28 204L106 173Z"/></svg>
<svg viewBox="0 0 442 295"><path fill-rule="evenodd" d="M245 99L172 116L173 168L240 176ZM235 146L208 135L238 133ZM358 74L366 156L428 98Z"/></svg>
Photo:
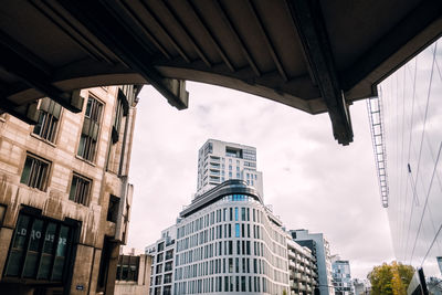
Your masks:
<svg viewBox="0 0 442 295"><path fill-rule="evenodd" d="M75 89L148 83L182 109L189 80L328 112L346 145L348 106L441 35L441 11L420 0L3 0L0 107L32 122L39 97L80 112Z"/></svg>

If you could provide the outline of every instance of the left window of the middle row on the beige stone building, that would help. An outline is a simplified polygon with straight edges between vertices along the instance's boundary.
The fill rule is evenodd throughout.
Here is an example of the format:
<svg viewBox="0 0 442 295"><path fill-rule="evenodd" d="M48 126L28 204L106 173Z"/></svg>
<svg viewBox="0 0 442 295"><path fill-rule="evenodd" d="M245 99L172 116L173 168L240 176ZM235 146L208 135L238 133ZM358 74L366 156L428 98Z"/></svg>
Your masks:
<svg viewBox="0 0 442 295"><path fill-rule="evenodd" d="M28 155L20 182L44 191L48 185L49 167L50 161Z"/></svg>

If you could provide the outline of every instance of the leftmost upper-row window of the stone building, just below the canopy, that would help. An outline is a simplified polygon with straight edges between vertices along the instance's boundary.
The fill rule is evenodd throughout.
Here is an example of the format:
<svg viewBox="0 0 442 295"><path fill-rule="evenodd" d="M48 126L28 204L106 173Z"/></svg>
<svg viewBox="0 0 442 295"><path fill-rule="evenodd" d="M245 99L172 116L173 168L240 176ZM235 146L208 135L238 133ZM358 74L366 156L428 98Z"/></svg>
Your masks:
<svg viewBox="0 0 442 295"><path fill-rule="evenodd" d="M33 133L43 139L54 143L62 106L46 97L40 101L39 109L39 120L34 126Z"/></svg>

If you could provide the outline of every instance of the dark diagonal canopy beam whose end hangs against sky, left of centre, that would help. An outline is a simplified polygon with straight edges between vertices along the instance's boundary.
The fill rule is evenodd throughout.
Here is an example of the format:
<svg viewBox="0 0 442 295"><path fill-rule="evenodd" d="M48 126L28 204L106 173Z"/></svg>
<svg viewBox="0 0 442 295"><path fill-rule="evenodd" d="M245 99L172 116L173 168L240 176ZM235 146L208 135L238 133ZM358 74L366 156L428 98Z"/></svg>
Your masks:
<svg viewBox="0 0 442 295"><path fill-rule="evenodd" d="M88 31L97 36L108 49L115 52L129 67L139 72L172 106L178 109L188 107L188 93L182 87L171 88L169 83L152 66L146 44L139 41L138 35L127 28L127 15L123 15L118 3L108 1L70 1L60 3L74 15ZM99 11L99 13L96 13ZM179 91L176 91L176 89Z"/></svg>

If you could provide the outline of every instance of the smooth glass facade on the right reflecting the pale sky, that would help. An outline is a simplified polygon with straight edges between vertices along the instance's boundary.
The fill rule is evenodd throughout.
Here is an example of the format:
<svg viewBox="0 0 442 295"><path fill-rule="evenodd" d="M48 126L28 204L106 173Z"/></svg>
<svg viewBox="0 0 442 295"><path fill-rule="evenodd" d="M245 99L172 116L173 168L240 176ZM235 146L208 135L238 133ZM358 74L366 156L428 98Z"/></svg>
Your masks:
<svg viewBox="0 0 442 295"><path fill-rule="evenodd" d="M379 96L383 134L375 156L383 161L378 171L381 193L387 188L383 201L396 256L423 267L425 276L441 277L442 41L386 78ZM376 122L372 128L376 133ZM383 148L377 149L380 141Z"/></svg>

